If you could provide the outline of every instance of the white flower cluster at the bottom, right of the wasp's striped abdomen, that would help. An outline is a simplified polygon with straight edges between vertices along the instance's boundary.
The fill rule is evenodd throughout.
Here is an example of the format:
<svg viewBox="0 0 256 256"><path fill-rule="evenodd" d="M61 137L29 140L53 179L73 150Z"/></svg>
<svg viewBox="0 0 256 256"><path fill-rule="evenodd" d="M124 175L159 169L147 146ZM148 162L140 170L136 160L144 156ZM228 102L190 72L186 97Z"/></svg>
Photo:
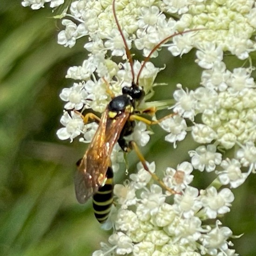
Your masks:
<svg viewBox="0 0 256 256"><path fill-rule="evenodd" d="M151 172L155 164L148 164ZM179 171L167 168L164 182L182 194L174 196L174 203L162 188L151 184L151 175L141 164L131 182L115 185L114 193L120 208L112 216L115 232L101 243L101 250L93 256L236 256L228 241L232 231L222 227L217 217L229 212L234 195L230 189L217 191L214 187L200 191L189 184L193 167L189 162L177 166ZM209 220L215 220L212 225Z"/></svg>

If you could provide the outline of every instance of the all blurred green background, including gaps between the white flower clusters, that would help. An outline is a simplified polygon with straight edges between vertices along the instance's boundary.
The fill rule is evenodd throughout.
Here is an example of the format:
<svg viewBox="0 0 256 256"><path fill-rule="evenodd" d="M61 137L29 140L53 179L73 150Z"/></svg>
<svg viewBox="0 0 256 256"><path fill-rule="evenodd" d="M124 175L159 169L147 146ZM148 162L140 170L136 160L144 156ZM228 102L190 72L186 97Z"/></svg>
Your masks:
<svg viewBox="0 0 256 256"><path fill-rule="evenodd" d="M65 79L67 68L80 65L87 53L83 41L72 49L57 44L61 22L52 15L47 7L33 11L22 7L21 0L0 0L0 255L4 256L87 256L109 235L94 219L91 202L79 205L75 200L75 162L86 146L59 141L55 135L63 111L59 94L73 84ZM155 99L169 98L177 82L189 88L199 84L195 52L182 59L165 58L164 53L158 58L159 67L168 63L158 82L168 85L156 90ZM230 68L238 64L231 56L226 62ZM153 130L150 145L142 150L149 162L164 170L188 160L187 151L195 148L189 137L174 152L161 129ZM136 162L131 153L131 169ZM124 179L119 173L116 182ZM211 174L195 172L194 184L205 188L211 179ZM235 235L245 234L234 240L243 256L256 255L255 184L251 175L234 191L236 201L222 219Z"/></svg>

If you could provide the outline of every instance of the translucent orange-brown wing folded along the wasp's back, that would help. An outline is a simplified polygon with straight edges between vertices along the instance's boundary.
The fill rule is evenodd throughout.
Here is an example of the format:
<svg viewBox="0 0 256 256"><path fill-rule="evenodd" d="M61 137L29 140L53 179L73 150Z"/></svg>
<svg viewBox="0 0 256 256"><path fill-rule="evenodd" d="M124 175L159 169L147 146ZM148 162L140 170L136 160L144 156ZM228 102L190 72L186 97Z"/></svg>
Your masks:
<svg viewBox="0 0 256 256"><path fill-rule="evenodd" d="M109 118L109 110L102 114L100 125L74 177L76 199L84 203L94 195L106 180L110 155L118 141L130 112L121 112L114 119Z"/></svg>

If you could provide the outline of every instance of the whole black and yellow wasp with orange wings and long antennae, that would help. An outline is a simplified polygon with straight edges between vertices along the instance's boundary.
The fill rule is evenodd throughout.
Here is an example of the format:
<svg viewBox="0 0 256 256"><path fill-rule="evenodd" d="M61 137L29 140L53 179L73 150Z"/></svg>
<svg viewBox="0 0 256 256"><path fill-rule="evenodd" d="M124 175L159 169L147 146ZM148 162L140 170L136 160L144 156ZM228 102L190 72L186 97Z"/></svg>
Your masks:
<svg viewBox="0 0 256 256"><path fill-rule="evenodd" d="M151 173L148 169L144 157L141 155L137 145L134 141L126 141L125 136L133 133L135 128L135 120L145 122L148 125L156 124L162 121L150 121L139 115L138 113L154 113L155 109L146 109L139 111L138 106L145 96L142 87L139 86L139 78L145 64L149 61L152 54L161 45L176 35L181 35L186 32L175 33L161 42L159 42L145 58L141 64L141 68L137 74L135 81L134 63L132 55L128 49L128 45L124 34L122 33L121 26L117 19L115 11L115 0L113 0L113 14L115 23L121 34L123 43L125 45L126 55L131 67L132 83L131 86L122 88L122 94L112 97L106 110L103 112L99 120L99 127L87 149L83 158L77 163L77 172L75 174L75 192L78 202L84 203L91 196L94 195L94 212L99 222L104 222L110 211L113 202L113 171L111 168L110 155L116 143L119 143L123 151L128 152L135 149L143 167L152 175L152 177L160 183L160 185L168 190L170 193L176 193L174 190L167 188L164 183L158 178L157 175ZM195 31L195 30L194 30ZM102 78L106 81L104 78ZM106 81L107 82L107 81ZM98 119L96 117L96 119ZM88 116L85 117L85 122L88 121ZM109 186L110 185L110 186ZM106 187L105 187L106 186ZM104 193L107 194L105 198Z"/></svg>

